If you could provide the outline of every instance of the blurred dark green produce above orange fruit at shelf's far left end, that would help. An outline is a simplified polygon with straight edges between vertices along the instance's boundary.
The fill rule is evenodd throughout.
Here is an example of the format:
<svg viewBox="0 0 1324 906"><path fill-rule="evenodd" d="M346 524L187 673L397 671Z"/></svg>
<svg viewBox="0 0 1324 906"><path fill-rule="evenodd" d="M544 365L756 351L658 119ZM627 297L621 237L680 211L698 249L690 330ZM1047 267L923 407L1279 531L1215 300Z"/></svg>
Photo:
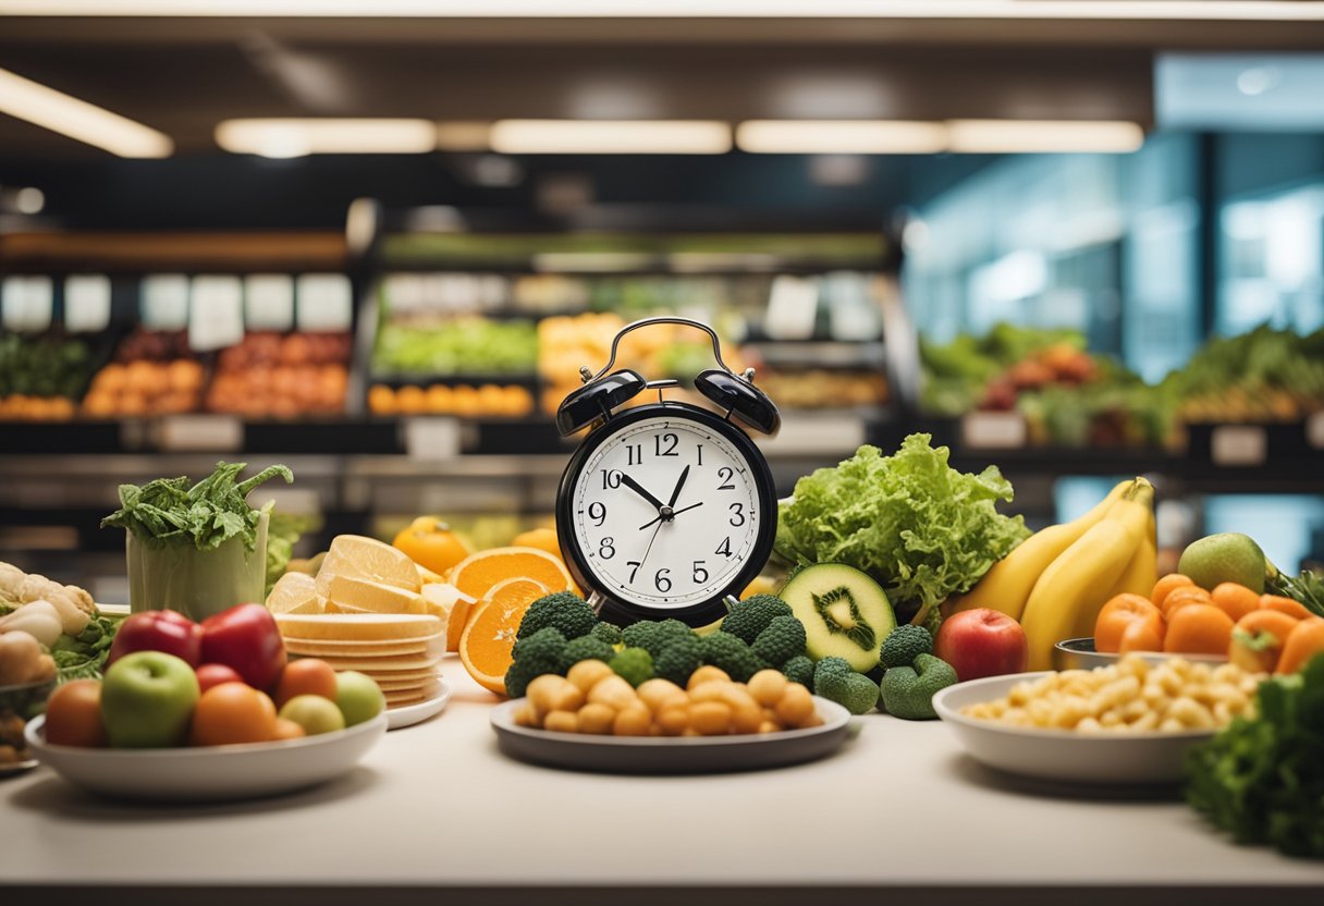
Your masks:
<svg viewBox="0 0 1324 906"><path fill-rule="evenodd" d="M94 367L85 340L0 332L0 419L71 419Z"/></svg>

